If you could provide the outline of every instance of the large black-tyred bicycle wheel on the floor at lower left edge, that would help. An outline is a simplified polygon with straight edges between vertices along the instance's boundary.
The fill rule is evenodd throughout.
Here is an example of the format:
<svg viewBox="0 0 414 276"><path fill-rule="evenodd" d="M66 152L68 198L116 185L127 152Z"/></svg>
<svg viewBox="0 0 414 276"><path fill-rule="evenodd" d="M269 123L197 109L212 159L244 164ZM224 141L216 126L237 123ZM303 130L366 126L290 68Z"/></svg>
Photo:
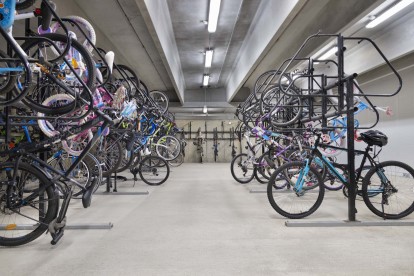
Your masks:
<svg viewBox="0 0 414 276"><path fill-rule="evenodd" d="M12 187L14 174L16 186ZM0 245L18 246L43 234L57 216L59 197L52 183L36 168L19 163L0 165ZM14 189L10 191L10 189ZM12 195L10 205L7 196Z"/></svg>

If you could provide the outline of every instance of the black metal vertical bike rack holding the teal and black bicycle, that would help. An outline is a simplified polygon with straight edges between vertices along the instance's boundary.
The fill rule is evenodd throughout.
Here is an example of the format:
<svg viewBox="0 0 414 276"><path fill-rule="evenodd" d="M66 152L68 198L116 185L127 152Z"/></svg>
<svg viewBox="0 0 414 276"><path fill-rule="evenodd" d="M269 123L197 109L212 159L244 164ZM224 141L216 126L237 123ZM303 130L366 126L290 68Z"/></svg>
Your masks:
<svg viewBox="0 0 414 276"><path fill-rule="evenodd" d="M338 48L337 51L337 61L332 60L312 60L311 58L303 58L300 57L300 53L305 48L306 44L318 37L335 37L336 38L336 45ZM297 82L300 79L306 79L307 80L307 89L304 89L306 93L303 93L303 90L301 90L300 97L304 103L308 101L307 105L303 104L303 107L306 107L308 109L308 116L306 118L302 118L300 120L299 126L303 126L306 123L314 122L314 121L321 121L321 126L319 127L322 131L329 131L332 130L332 127L329 128L327 125L327 119L331 117L336 117L339 115L346 115L347 116L347 161L348 161L348 171L354 172L355 171L355 144L354 144L354 131L355 131L355 125L354 125L354 79L356 78L357 74L353 74L350 76L346 76L344 72L344 42L347 40L354 40L358 43L361 42L368 42L375 48L375 50L379 53L379 55L382 57L383 61L388 65L388 67L391 69L391 71L395 74L395 76L398 79L399 86L397 90L391 94L366 94L359 89L358 96L363 97L368 104L371 106L372 110L376 114L376 122L373 123L369 127L358 127L358 129L370 129L373 128L379 121L379 114L378 111L374 108L374 105L369 100L368 97L392 97L396 95L402 87L402 80L398 72L392 67L390 62L387 60L387 58L384 56L384 54L381 52L381 50L378 48L378 46L368 38L363 37L343 37L341 34L315 34L310 37L308 37L305 42L302 44L302 46L297 50L297 52L294 54L294 56L291 59L286 60L279 68L279 70L269 71L272 72L273 77L267 77L267 80L265 83L261 84L259 89L261 91L265 91L272 82L274 81L274 78L276 76L279 76L279 89L287 96L297 97L296 94L289 94L289 89L294 86L294 83ZM314 68L313 68L313 62L325 62L325 63L332 63L337 66L337 76L327 76L325 74L317 75L314 74ZM300 62L306 62L307 63L307 69L305 70L305 73L298 74L296 79L293 79L292 81L288 82L287 87L283 87L282 85L282 77L288 74L289 70L292 69L293 66L296 66ZM263 74L265 75L265 74ZM334 84L327 84L328 78L335 78L336 82ZM319 82L316 82L315 80L319 79ZM319 85L319 89L315 89L315 82ZM263 89L264 87L264 89ZM338 88L338 95L328 95L327 91L329 89L332 89L334 87ZM346 87L346 93L345 88ZM315 103L313 99L315 97L321 98L321 106L319 106L320 109L317 109L317 106L315 106ZM337 106L333 106L335 109L334 112L328 113L328 97L336 97L338 100ZM248 99L250 101L250 98ZM346 106L344 105L346 100ZM246 100L247 102L247 100ZM242 104L243 106L243 104ZM330 106L332 107L332 106ZM289 126L289 129L295 129L294 125L292 124ZM338 128L338 127L335 127ZM296 130L304 130L303 128L296 128ZM280 131L283 131L283 129L280 129ZM414 222L401 222L401 221L375 221L375 222L361 222L356 220L356 208L355 208L355 200L356 200L356 179L355 174L350 173L349 176L349 182L350 187L348 189L348 220L346 221L340 221L340 222L332 222L332 221L305 221L305 222L299 222L299 221L287 221L286 226L289 227L335 227L335 226L395 226L395 225L414 225Z"/></svg>

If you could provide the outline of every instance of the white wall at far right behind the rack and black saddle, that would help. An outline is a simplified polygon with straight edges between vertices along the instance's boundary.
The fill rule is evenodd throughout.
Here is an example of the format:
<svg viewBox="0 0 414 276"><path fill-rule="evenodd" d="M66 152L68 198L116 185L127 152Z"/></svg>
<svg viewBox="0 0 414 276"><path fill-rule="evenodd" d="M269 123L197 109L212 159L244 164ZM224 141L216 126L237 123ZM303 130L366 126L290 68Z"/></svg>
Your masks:
<svg viewBox="0 0 414 276"><path fill-rule="evenodd" d="M399 94L391 98L374 98L370 100L376 106L390 106L393 116L380 112L380 121L373 129L380 130L388 136L386 145L380 156L380 161L397 160L408 163L414 167L414 54L394 61L397 71L402 77L403 86ZM357 78L364 93L391 93L397 87L394 75L383 66ZM374 122L374 113L363 111L356 117L362 125L368 126ZM365 130L361 130L365 131ZM356 148L363 149L363 142L356 142ZM346 160L346 154L340 156L341 161Z"/></svg>

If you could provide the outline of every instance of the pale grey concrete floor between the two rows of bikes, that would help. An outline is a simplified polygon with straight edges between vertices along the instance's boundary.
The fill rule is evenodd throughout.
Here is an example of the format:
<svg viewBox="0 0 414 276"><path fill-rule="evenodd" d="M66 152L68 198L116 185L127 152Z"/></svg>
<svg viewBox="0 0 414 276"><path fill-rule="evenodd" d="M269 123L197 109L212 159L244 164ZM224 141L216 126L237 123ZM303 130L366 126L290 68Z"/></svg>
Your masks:
<svg viewBox="0 0 414 276"><path fill-rule="evenodd" d="M0 275L414 275L414 227L291 228L270 207L265 185L241 185L229 164L184 164L160 187L132 181L70 208L67 230L18 248L0 248ZM363 202L358 219L380 221ZM310 218L347 218L347 201L330 192ZM411 215L406 221L413 221Z"/></svg>

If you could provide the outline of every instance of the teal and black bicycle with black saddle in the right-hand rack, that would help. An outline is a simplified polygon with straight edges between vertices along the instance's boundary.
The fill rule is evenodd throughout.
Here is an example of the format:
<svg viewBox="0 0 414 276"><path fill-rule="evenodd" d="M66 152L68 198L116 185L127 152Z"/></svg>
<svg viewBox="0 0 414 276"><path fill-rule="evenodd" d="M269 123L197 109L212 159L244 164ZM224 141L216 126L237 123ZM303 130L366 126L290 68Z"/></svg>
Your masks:
<svg viewBox="0 0 414 276"><path fill-rule="evenodd" d="M314 158L319 158L337 181L349 189L349 175L338 169L319 151L318 147L326 147L321 143L321 133L317 138L311 154L304 160L290 162L279 167L271 176L267 186L267 196L273 209L284 217L291 219L304 218L315 212L321 205L325 186L321 174L311 166ZM365 150L355 150L362 155L359 168L366 168L369 161L371 169L362 175L362 169L355 173L356 194L362 195L367 207L377 216L384 219L399 219L414 211L414 169L398 161L377 162L380 151L374 146L383 147L388 143L385 134L376 130L361 133L360 140L367 144ZM331 146L328 146L331 147ZM337 148L345 150L343 148ZM361 188L359 188L361 187Z"/></svg>

